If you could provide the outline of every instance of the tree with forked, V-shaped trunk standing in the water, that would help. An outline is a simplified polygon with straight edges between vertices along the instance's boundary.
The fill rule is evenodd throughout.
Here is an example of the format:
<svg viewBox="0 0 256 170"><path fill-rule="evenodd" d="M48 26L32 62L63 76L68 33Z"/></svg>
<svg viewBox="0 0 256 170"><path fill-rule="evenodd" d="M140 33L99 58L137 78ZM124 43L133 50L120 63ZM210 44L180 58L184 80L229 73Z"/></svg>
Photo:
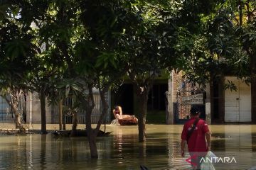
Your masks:
<svg viewBox="0 0 256 170"><path fill-rule="evenodd" d="M92 1L87 1L87 3L90 2ZM114 31L107 30L107 28L100 30L100 27L106 26L104 22L108 21L104 19L108 18L96 20L96 26L99 29L95 30L100 31L101 35L95 33L95 30L91 29L94 27L94 23L87 24L87 11L93 9L100 12L102 10L99 10L100 8L89 8L85 5L87 3L80 1L49 2L48 8L46 8L43 17L40 17L41 20L38 22L38 34L41 42L50 45L50 48L46 48L44 53L55 54L50 55L52 60L53 58L59 58L64 62L65 67L63 67L61 82L52 81L52 83L55 84L57 89L64 89L65 91L68 89L68 91L75 94L77 107L80 112L85 112L91 156L97 158L96 137L100 131L102 119L107 112L105 93L114 82L113 80L117 78L119 72L114 69L117 68L117 52L114 50L114 44L111 43L114 38L110 38L114 35ZM107 4L105 5L107 6ZM100 5L98 4L98 6ZM106 8L105 6L101 7ZM106 11L102 12L106 13ZM107 12L114 19L115 16L111 9ZM55 67L54 64L52 67ZM121 77L122 75L119 74L118 76ZM92 129L91 115L92 109L95 107L92 88L95 86L100 90L104 108L97 123L97 128ZM75 115L73 118L75 118ZM75 134L75 129L76 123L74 121L72 134Z"/></svg>

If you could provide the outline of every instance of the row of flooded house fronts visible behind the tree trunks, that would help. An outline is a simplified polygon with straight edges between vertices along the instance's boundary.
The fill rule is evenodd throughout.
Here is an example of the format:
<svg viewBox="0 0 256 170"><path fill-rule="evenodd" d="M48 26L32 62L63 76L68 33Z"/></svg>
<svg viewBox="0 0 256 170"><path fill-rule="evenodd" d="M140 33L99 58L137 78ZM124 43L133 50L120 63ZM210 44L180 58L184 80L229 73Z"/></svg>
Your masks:
<svg viewBox="0 0 256 170"><path fill-rule="evenodd" d="M237 90L224 89L225 84L232 81ZM195 89L196 88L196 89ZM100 95L97 89L93 90L95 97L95 109L92 111L92 123L97 120L102 111ZM166 93L167 92L167 93ZM167 96L166 96L167 94ZM199 95L198 95L199 94ZM236 77L223 77L206 84L203 89L198 89L184 79L182 72L171 72L171 78L161 77L154 81L149 93L149 113L166 113L166 120L163 123L183 123L188 119L191 104L184 103L184 98L196 98L203 103L193 103L201 108L202 118L208 123L251 123L252 122L252 99L251 86L242 79ZM110 123L113 118L112 108L114 105L122 106L125 114L136 115L139 107L134 93L134 85L131 81L125 80L122 86L116 91L109 91L106 94L109 103L106 121ZM166 100L166 97L168 100ZM166 102L168 101L168 102ZM191 101L188 101L191 102ZM167 108L166 108L167 103ZM72 99L67 98L65 106L70 106ZM23 123L41 123L40 100L38 94L29 93L26 96L26 108L23 112ZM58 123L58 106L46 106L46 122ZM14 115L6 101L0 97L0 121L1 123L14 122ZM72 123L72 115L65 114L63 121ZM85 114L78 113L78 123L85 123Z"/></svg>

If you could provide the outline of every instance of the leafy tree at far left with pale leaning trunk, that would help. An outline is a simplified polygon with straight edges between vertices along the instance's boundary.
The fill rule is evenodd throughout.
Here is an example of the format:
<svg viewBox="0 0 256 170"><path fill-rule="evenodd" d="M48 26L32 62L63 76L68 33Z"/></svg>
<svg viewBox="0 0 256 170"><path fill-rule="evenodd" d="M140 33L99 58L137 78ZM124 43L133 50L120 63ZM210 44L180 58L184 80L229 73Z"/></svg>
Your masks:
<svg viewBox="0 0 256 170"><path fill-rule="evenodd" d="M33 36L29 26L20 20L19 6L14 1L1 1L0 55L1 55L1 96L6 98L15 115L16 128L21 125L21 103L29 89L29 72L36 47L31 43ZM9 98L10 96L10 98Z"/></svg>

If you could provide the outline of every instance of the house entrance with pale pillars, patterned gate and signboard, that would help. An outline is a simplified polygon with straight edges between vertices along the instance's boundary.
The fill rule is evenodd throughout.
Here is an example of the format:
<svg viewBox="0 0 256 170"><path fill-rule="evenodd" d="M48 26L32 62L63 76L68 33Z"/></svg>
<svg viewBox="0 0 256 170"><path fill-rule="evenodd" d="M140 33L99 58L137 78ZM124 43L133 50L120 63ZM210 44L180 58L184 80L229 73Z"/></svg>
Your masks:
<svg viewBox="0 0 256 170"><path fill-rule="evenodd" d="M208 86L192 84L184 77L183 72L171 72L169 79L169 108L166 116L167 124L186 122L192 105L201 110L201 118L210 121L210 105Z"/></svg>

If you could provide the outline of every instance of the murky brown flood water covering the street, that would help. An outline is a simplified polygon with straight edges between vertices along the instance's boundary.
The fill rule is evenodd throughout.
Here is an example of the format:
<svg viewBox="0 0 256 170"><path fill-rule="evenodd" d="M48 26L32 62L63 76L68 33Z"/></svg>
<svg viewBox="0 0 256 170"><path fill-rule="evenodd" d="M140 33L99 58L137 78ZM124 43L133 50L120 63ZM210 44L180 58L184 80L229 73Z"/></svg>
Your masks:
<svg viewBox="0 0 256 170"><path fill-rule="evenodd" d="M146 142L137 126L107 125L108 137L97 138L99 159L90 158L86 137L52 134L0 135L0 169L191 169L180 155L182 125L146 125ZM235 162L215 169L256 167L256 125L211 125L212 151Z"/></svg>

